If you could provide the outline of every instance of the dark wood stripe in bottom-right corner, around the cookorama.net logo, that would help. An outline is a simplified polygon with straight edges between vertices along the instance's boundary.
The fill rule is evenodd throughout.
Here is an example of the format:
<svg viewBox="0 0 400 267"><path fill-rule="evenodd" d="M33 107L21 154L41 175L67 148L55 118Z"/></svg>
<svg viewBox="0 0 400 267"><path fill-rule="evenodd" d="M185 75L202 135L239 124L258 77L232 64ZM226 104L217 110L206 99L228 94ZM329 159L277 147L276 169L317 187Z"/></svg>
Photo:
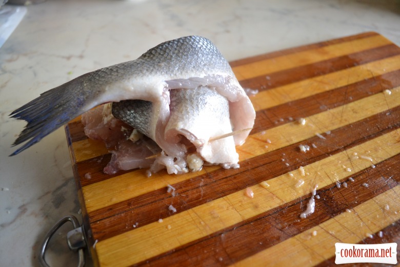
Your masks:
<svg viewBox="0 0 400 267"><path fill-rule="evenodd" d="M397 264L400 263L400 220L395 223L390 224L389 226L382 229L383 237L379 237L378 233L373 235L373 238L365 238L358 244L383 244L383 243L397 243ZM324 266L337 266L335 263L335 256L324 260L323 262L315 265L316 267L324 267ZM394 266L391 264L377 264L377 263L348 263L341 264L340 266L350 267L350 266ZM398 266L398 265L397 265Z"/></svg>

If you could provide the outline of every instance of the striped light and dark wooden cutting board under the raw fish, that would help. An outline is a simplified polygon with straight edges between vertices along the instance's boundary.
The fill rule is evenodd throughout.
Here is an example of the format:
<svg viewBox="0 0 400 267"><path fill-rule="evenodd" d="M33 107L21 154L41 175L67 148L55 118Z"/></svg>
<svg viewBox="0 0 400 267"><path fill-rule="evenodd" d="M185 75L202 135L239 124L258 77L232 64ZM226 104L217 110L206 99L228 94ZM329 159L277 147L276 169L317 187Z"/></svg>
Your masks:
<svg viewBox="0 0 400 267"><path fill-rule="evenodd" d="M400 243L400 48L368 32L231 66L259 91L238 169L109 176L103 143L66 126L95 264L334 265L335 242Z"/></svg>

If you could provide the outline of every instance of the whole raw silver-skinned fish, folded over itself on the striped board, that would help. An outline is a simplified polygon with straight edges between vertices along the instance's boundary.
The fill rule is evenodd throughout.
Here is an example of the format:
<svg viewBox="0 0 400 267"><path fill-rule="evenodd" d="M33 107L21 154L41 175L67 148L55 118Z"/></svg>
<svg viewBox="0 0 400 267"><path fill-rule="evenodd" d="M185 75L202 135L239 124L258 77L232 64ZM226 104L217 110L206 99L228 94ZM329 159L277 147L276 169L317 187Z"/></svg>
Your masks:
<svg viewBox="0 0 400 267"><path fill-rule="evenodd" d="M255 120L223 55L208 39L186 36L86 73L13 111L27 125L13 145L26 143L11 156L82 114L86 135L112 152L109 174L137 167L180 174L203 162L238 167L235 146Z"/></svg>

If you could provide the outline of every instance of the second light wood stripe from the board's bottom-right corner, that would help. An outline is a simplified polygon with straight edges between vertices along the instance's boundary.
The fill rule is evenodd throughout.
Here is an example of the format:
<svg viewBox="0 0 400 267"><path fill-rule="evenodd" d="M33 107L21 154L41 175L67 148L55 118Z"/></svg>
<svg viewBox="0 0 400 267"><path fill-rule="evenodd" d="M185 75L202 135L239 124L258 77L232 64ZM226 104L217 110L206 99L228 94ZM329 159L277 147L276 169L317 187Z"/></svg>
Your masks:
<svg viewBox="0 0 400 267"><path fill-rule="evenodd" d="M399 131L394 130L353 147L349 151L340 152L306 166L306 172L310 174L302 177L305 180L302 188L295 188L294 184L297 180L290 181L291 178L285 174L268 180L270 187L267 190L259 185L252 186L255 195L253 199L246 198L241 190L165 218L163 223L151 223L100 241L96 245L99 262L104 266L112 266L115 263L114 260L118 259L120 265L133 264L264 213L271 208L308 194L315 184L321 187L326 186L371 165L371 162L363 159L349 158L353 151L359 155L372 157L374 163L398 154L400 152L398 138ZM390 146L390 151L382 149L380 144ZM343 164L352 166L351 171L344 170ZM290 187L291 194L288 196L282 195L282 189L285 189L282 188L282 183L284 186ZM170 230L167 229L167 225L171 225ZM185 231L182 232L182 229ZM127 251L135 251L135 253L127 255Z"/></svg>

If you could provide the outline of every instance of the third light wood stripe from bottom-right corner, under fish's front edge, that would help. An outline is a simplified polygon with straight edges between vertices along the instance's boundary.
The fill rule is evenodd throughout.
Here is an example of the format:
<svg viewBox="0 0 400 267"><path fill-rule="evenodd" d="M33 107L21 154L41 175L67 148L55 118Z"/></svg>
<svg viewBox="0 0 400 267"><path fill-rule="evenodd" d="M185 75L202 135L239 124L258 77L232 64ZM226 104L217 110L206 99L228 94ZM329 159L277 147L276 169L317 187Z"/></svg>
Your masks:
<svg viewBox="0 0 400 267"><path fill-rule="evenodd" d="M251 135L245 145L236 147L239 158L244 161L263 155L267 152L308 139L315 136L317 132L323 133L333 130L334 128L368 118L376 113L400 105L400 87L396 87L391 91L392 94L390 96L386 96L384 93L377 93L346 106L310 116L306 118L308 123L305 126L293 122L272 128L265 135L263 133ZM360 112L359 107L363 107L362 112ZM315 125L318 125L318 128ZM267 139L271 140L271 143L268 143ZM268 145L268 148L265 148L265 145ZM156 173L152 176L151 180L146 177L146 170L135 170L131 173L84 186L82 190L86 199L86 208L88 213L90 213L96 209L165 187L168 184L178 183L203 175L206 172L210 173L218 168L218 166L206 167L197 173L188 173L179 176Z"/></svg>

